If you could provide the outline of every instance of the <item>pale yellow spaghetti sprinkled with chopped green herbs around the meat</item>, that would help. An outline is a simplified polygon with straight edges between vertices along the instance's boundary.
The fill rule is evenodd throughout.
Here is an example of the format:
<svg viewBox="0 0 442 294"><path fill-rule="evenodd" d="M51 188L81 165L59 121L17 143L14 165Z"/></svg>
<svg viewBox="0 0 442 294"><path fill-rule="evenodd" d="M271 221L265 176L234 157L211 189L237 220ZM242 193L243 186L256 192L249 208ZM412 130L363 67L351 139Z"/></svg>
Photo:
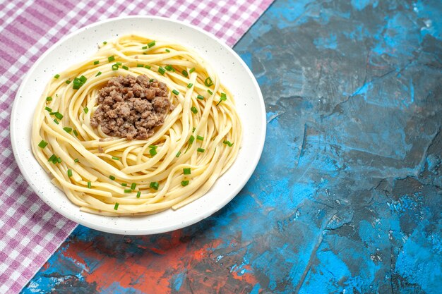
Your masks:
<svg viewBox="0 0 442 294"><path fill-rule="evenodd" d="M167 85L172 104L145 140L91 125L97 96L118 75ZM234 162L241 122L213 68L180 44L126 35L54 76L32 121L32 152L71 202L92 214L143 215L203 196Z"/></svg>

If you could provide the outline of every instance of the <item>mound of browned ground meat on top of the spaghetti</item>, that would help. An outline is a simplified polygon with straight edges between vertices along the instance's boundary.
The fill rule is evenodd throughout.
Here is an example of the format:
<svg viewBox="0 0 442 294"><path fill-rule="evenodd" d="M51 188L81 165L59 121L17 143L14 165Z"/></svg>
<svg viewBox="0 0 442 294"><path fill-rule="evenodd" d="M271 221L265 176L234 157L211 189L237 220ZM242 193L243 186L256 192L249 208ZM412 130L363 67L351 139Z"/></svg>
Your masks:
<svg viewBox="0 0 442 294"><path fill-rule="evenodd" d="M164 82L150 82L146 75L111 78L97 97L97 110L90 125L103 133L129 140L145 140L162 125L171 109Z"/></svg>

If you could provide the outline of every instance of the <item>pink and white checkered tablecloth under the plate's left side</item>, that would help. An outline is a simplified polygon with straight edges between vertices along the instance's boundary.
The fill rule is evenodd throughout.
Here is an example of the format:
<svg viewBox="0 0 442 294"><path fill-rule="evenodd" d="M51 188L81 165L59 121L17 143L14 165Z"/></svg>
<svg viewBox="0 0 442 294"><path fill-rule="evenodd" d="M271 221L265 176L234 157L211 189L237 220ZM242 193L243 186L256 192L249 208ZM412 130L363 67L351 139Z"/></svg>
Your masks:
<svg viewBox="0 0 442 294"><path fill-rule="evenodd" d="M233 46L273 0L0 0L0 293L18 293L76 223L30 189L14 160L9 117L23 76L44 51L80 27L116 16L165 16Z"/></svg>

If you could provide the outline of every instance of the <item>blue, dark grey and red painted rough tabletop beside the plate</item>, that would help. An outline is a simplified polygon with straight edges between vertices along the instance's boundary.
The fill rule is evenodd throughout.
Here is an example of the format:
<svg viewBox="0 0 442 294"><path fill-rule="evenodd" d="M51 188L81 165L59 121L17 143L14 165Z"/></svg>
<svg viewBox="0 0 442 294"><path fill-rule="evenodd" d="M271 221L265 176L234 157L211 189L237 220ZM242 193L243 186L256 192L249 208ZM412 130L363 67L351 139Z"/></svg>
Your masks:
<svg viewBox="0 0 442 294"><path fill-rule="evenodd" d="M276 1L234 47L249 183L172 233L79 226L23 293L441 293L442 2Z"/></svg>

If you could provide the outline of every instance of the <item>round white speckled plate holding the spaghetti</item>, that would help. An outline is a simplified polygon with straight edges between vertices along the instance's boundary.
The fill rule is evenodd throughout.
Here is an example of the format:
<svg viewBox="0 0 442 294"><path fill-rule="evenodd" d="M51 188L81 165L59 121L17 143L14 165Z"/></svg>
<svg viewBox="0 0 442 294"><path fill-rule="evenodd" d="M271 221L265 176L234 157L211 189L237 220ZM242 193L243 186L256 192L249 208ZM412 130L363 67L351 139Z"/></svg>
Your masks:
<svg viewBox="0 0 442 294"><path fill-rule="evenodd" d="M30 148L32 116L50 78L97 51L97 43L119 35L138 33L153 39L171 39L198 51L234 94L243 123L238 157L213 188L200 199L173 211L150 216L98 216L80 212L35 160ZM11 141L23 176L52 209L83 226L119 234L143 235L184 228L225 206L244 187L261 157L265 139L265 106L261 90L249 68L227 45L203 30L175 20L132 16L113 18L83 27L61 39L30 68L17 92L11 114Z"/></svg>

